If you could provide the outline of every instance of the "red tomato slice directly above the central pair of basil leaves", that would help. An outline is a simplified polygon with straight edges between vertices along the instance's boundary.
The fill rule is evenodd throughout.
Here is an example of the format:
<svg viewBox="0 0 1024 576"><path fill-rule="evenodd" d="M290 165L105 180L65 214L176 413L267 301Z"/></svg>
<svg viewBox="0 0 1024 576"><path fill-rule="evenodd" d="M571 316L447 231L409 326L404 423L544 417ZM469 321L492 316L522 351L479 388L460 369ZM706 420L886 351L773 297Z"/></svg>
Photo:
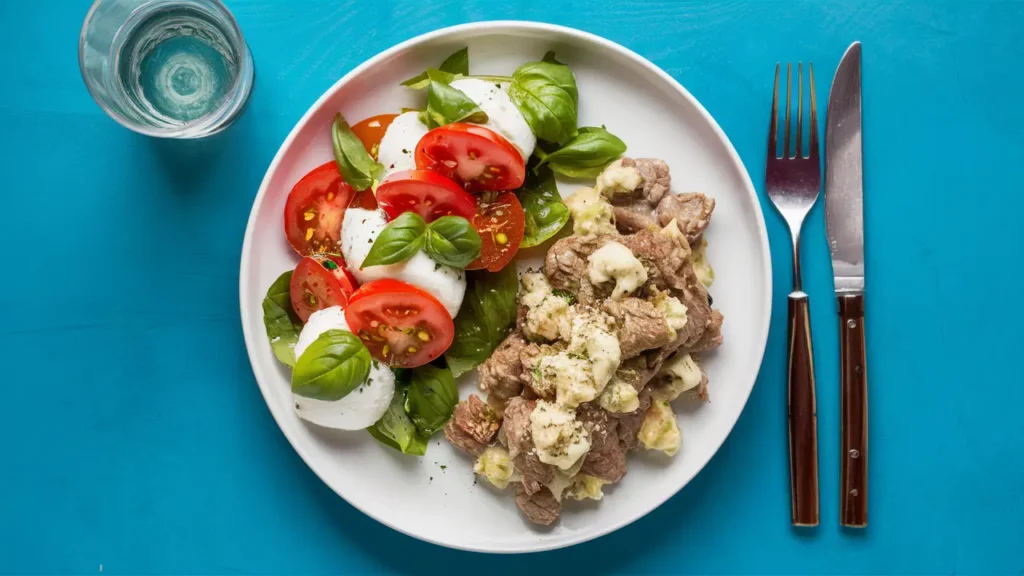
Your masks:
<svg viewBox="0 0 1024 576"><path fill-rule="evenodd" d="M428 222L449 214L472 220L476 213L475 198L430 170L404 170L384 178L377 187L377 203L389 219L402 212L416 212Z"/></svg>

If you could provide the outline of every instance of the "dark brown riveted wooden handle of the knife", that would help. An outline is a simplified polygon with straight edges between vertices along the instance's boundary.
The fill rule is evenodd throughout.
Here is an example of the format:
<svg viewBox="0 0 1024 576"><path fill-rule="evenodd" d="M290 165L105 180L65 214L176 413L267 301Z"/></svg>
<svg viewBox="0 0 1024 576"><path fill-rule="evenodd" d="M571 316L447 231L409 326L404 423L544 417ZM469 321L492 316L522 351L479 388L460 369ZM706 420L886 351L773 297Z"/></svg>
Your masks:
<svg viewBox="0 0 1024 576"><path fill-rule="evenodd" d="M840 522L867 526L867 355L864 349L864 295L839 296L842 469Z"/></svg>

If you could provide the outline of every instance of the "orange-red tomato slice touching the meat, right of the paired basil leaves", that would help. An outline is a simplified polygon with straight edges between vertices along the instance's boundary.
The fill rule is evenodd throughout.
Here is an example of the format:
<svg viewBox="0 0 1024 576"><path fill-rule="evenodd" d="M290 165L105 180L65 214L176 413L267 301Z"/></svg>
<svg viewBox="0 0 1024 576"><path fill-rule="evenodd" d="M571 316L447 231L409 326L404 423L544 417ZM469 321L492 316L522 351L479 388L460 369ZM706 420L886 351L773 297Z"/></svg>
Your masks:
<svg viewBox="0 0 1024 576"><path fill-rule="evenodd" d="M477 202L473 227L480 234L480 257L466 266L466 270L487 269L498 272L519 250L526 228L526 216L515 194L485 193Z"/></svg>

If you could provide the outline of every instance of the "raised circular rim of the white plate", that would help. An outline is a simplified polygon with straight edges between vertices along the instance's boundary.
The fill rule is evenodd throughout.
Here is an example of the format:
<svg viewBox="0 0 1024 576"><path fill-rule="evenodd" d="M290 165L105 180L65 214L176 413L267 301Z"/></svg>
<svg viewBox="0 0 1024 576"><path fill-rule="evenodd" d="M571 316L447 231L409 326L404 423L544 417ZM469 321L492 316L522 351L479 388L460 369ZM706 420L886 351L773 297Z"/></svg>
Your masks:
<svg viewBox="0 0 1024 576"><path fill-rule="evenodd" d="M756 355L758 371L754 374L754 382L751 384L750 388L745 394L745 397L742 399L741 408L739 409L739 411L737 411L736 416L732 419L732 421L728 422L726 426L727 427L726 434L722 437L722 440L718 443L718 446L714 447L714 450L711 452L711 456L709 456L708 459L703 463L701 463L700 466L697 467L692 475L686 477L678 488L671 491L671 493L667 493L664 498L658 499L658 501L656 501L653 505L649 507L641 507L638 508L633 513L624 515L622 519L611 522L607 527L601 528L596 532L574 535L562 541L549 542L548 540L536 540L531 544L521 545L516 548L492 549L479 545L476 546L462 545L457 542L444 541L442 539L433 537L430 534L414 534L412 532L409 532L400 528L399 526L389 523L381 518L378 518L377 516L369 512L367 509L360 506L358 502L354 502L346 498L345 495L342 494L338 488L336 488L331 482L328 482L327 478L325 477L325 474L322 474L321 470L317 469L317 465L313 463L315 459L309 457L309 455L306 453L306 450L301 447L301 444L297 443L296 440L293 439L292 436L288 433L287 428L283 425L281 420L282 418L281 410L275 408L274 404L270 401L270 396L268 390L268 386L270 384L264 382L264 378L261 377L259 373L257 373L256 357L255 357L256 353L254 352L256 349L255 335L251 334L248 329L248 326L250 325L250 316L254 313L252 311L253 302L250 301L248 296L246 295L246 279L250 275L250 268L251 268L249 258L246 257L246 254L249 253L250 245L253 242L253 236L255 230L254 224L256 221L257 211L258 211L257 209L259 206L262 205L263 198L267 193L267 189L269 188L270 174L272 174L279 169L280 164L285 156L285 153L291 148L293 141L295 140L299 132L302 130L302 128L305 127L305 125L309 122L310 118L316 113L316 111L318 111L321 107L324 106L325 102L334 95L335 92L340 90L341 87L346 83L348 83L350 79L358 76L364 71L371 69L374 66L377 66L378 63L390 57L392 54L404 51L410 48L414 48L417 45L424 44L438 38L443 38L450 35L457 35L467 31L472 31L472 32L489 31L495 33L502 32L510 34L516 34L525 31L534 33L550 32L566 36L581 43L597 44L602 48L617 52L620 55L627 57L628 59L632 60L633 63L637 64L640 67L643 67L648 72L653 73L655 76L659 77L670 86L675 88L676 91L678 91L684 98L686 98L689 101L690 105L694 107L694 109L701 115L703 120L708 122L709 126L714 131L715 135L718 136L721 139L722 143L725 145L725 150L727 152L729 160L739 170L739 173L742 176L744 192L750 197L750 200L752 201L752 204L754 206L754 216L758 229L757 233L758 237L761 240L760 242L761 259L762 262L764 262L762 266L763 270L761 271L761 273L763 275L763 278L765 279L764 281L767 287L767 289L763 292L763 295L761 297L762 299L761 303L763 304L761 313L762 316L761 325L764 328L762 329L762 333L759 334L757 337L757 341L760 342L759 346L760 349ZM696 477L696 475L700 474L700 471L703 470L705 466L707 466L708 463L711 462L712 458L714 458L715 454L717 454L718 451L722 448L722 445L725 443L725 440L728 439L729 436L732 434L732 430L735 427L736 422L739 421L739 417L742 415L743 410L746 409L746 404L750 401L751 394L754 392L754 386L757 385L757 379L758 376L760 375L760 368L764 361L765 348L768 343L768 332L771 324L771 307L772 307L771 287L772 287L771 250L768 243L768 230L765 224L764 212L761 209L761 203L757 195L757 190L754 188L754 181L751 179L751 175L750 172L748 172L746 170L746 166L739 158L739 154L736 152L735 147L732 146L732 141L725 134L725 132L722 130L722 127L718 124L718 122L711 115L711 113L708 112L708 110L703 107L703 105L701 105L700 101L697 100L697 98L689 92L689 90L687 90L678 80L673 78L669 73L664 71L662 68L659 68L646 57L638 54L637 52L634 52L633 50L627 48L626 46L623 46L622 44L618 44L617 42L571 27L548 24L548 23L540 23L531 20L515 20L515 19L499 19L499 20L466 23L456 26L444 27L424 34L420 34L418 36L399 42L381 52L378 52L374 56L368 58L360 65L350 70L347 74L345 74L340 79L338 79L334 84L332 84L330 88L325 90L324 93L321 94L321 96L316 98L316 100L313 104L309 106L305 114L303 114L302 117L298 120L298 122L295 123L295 126L292 127L292 130L288 133L288 136L278 148L278 152L274 154L273 159L270 161L270 164L267 166L266 171L263 174L263 179L260 182L259 191L256 193L255 198L253 198L252 208L250 209L249 212L249 218L246 221L246 232L242 243L241 265L239 269L239 304L241 307L242 332L246 343L246 353L247 356L249 357L250 369L252 369L253 377L256 379L256 383L259 385L260 394L263 396L263 402L264 404L266 404L267 409L270 411L270 415L273 417L274 422L278 424L278 428L281 429L282 434L285 435L285 438L288 440L288 443L291 445L292 449L295 450L295 452L299 455L299 457L306 464L306 466L309 467L309 469L312 470L314 475L316 475L316 477L321 480L321 482L323 482L339 497L341 497L346 502L351 504L352 507L359 510L361 513L367 515L373 520L383 524L384 526L391 528L396 532L399 532L412 538L416 538L418 540L430 542L432 544L436 544L446 548L475 551L475 552L486 552L486 553L540 552L540 551L566 548L574 546L577 544L595 540L597 538L615 532L622 528L625 528L626 526L633 524L637 520L647 516L654 509L660 507L670 498L672 498L673 496L678 494L683 488L685 488L686 485L688 485Z"/></svg>

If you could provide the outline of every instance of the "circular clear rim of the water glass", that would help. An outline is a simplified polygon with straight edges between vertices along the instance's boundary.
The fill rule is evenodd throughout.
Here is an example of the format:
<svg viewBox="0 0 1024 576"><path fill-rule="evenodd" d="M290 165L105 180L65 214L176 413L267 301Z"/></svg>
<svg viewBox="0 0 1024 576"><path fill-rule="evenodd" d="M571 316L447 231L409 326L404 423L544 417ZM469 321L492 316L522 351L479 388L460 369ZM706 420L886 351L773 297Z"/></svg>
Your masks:
<svg viewBox="0 0 1024 576"><path fill-rule="evenodd" d="M115 122L124 126L125 128L128 128L133 132L137 132L139 134L143 134L146 136L154 136L160 138L193 138L196 137L195 132L197 131L205 132L205 129L208 129L211 126L216 125L217 123L221 124L219 128L217 128L216 130L205 132L203 135L213 135L216 132L219 132L223 128L227 127L227 125L230 124L230 121L236 116L238 116L242 112L242 110L245 109L246 105L248 104L250 95L246 95L245 98L246 101L242 102L242 106L239 106L239 109L234 111L228 118L223 118L223 114L228 109L230 109L231 106L238 104L231 100L230 98L225 99L214 112L211 112L210 114L206 115L204 119L199 122L185 124L183 126L176 126L173 128L153 128L150 126L142 126L141 124L124 117L121 113L109 107L106 102L104 102L102 98L99 97L99 95L96 93L96 90L93 89L92 83L89 82L89 79L86 76L86 69L85 69L85 45L86 45L85 39L88 34L89 24L92 22L92 17L95 15L96 10L99 9L99 5L102 4L103 2L109 2L109 1L110 0L93 0L92 4L89 6L89 11L85 13L85 20L82 22L82 30L81 32L79 32L78 36L78 72L79 74L82 75L82 82L85 83L86 89L89 90L89 95L92 96L93 101L99 105L99 108L101 108L103 112L106 113L106 116L114 119ZM169 2L173 0L151 0L151 1ZM249 44L246 43L245 36L242 35L242 29L239 27L238 20L234 19L234 14L232 14L231 11L227 9L227 6L221 0L207 0L207 1L216 4L217 7L220 9L220 11L223 12L223 15L226 16L227 24L230 26L230 32L234 36L237 36L237 38L242 44L242 48L245 49L245 53L242 54L243 60L244 61L251 60L252 55L249 51ZM239 76L236 77L234 79L236 85L232 86L232 89L238 87L238 84L242 81L242 78L243 78L242 71L240 71Z"/></svg>

